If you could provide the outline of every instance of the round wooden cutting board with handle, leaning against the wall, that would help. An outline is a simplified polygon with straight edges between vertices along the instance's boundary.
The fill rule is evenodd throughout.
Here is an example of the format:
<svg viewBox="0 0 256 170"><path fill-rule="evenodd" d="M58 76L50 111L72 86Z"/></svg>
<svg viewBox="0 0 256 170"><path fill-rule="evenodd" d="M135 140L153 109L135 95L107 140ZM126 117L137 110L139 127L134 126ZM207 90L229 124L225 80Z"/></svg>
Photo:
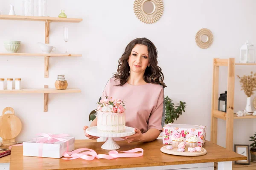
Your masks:
<svg viewBox="0 0 256 170"><path fill-rule="evenodd" d="M12 113L6 113L6 111L11 111ZM20 119L15 116L13 108L3 109L3 115L0 116L1 138L6 140L14 139L20 133L21 126Z"/></svg>

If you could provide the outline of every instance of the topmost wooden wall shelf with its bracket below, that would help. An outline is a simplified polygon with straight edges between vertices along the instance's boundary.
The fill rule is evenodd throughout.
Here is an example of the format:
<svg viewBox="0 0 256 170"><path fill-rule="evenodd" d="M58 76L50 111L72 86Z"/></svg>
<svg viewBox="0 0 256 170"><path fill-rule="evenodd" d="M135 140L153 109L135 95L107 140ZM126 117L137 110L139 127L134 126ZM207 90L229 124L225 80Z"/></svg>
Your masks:
<svg viewBox="0 0 256 170"><path fill-rule="evenodd" d="M20 15L0 15L0 20L44 21L45 22L45 43L49 44L50 22L79 23L83 19L81 19L81 18L59 18L59 17L32 17L32 16L20 16Z"/></svg>

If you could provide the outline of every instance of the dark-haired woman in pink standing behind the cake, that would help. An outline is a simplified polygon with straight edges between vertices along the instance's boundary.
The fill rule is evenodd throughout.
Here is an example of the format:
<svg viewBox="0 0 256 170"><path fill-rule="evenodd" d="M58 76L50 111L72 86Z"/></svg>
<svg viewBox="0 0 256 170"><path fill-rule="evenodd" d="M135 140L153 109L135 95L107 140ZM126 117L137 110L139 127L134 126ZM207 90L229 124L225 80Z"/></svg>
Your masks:
<svg viewBox="0 0 256 170"><path fill-rule="evenodd" d="M164 124L165 106L162 69L157 66L157 48L146 38L132 40L122 57L116 74L108 80L102 94L124 99L125 124L134 127L135 134L123 137L127 142L151 142L160 135ZM90 126L97 125L97 118ZM89 139L99 137L88 135Z"/></svg>

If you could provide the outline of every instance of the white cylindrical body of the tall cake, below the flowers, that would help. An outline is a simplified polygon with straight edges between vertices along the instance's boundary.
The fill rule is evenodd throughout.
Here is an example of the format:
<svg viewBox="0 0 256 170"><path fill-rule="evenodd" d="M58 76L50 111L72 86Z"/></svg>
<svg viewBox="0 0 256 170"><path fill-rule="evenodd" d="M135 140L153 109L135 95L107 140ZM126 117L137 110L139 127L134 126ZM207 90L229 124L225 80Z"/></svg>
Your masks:
<svg viewBox="0 0 256 170"><path fill-rule="evenodd" d="M102 132L120 133L125 131L125 113L99 111L97 129Z"/></svg>

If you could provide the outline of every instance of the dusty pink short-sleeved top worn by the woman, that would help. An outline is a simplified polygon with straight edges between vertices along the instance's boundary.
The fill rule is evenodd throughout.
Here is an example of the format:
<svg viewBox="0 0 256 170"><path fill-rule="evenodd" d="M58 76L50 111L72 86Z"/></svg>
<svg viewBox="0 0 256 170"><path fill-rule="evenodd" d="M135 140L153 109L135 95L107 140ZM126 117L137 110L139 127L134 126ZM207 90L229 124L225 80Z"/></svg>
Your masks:
<svg viewBox="0 0 256 170"><path fill-rule="evenodd" d="M162 131L165 117L164 90L161 85L130 85L116 86L119 80L112 77L108 80L102 94L113 99L125 101L125 126L140 129L145 133L154 128Z"/></svg>

